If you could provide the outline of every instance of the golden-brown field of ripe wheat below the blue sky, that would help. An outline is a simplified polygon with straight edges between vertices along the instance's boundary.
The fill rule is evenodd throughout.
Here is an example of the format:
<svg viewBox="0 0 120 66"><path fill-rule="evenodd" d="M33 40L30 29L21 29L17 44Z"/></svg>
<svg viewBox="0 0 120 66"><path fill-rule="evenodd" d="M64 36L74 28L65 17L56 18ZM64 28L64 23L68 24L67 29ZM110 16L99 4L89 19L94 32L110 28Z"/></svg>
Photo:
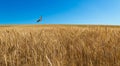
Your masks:
<svg viewBox="0 0 120 66"><path fill-rule="evenodd" d="M0 66L120 66L120 27L0 27Z"/></svg>

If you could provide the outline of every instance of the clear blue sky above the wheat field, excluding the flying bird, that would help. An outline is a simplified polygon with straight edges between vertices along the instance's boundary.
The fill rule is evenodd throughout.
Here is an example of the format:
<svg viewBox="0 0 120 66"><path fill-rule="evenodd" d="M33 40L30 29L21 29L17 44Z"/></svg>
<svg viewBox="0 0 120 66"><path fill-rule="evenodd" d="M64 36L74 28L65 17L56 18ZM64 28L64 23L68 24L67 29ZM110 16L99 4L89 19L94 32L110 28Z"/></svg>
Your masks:
<svg viewBox="0 0 120 66"><path fill-rule="evenodd" d="M120 0L0 0L0 24L120 25Z"/></svg>

